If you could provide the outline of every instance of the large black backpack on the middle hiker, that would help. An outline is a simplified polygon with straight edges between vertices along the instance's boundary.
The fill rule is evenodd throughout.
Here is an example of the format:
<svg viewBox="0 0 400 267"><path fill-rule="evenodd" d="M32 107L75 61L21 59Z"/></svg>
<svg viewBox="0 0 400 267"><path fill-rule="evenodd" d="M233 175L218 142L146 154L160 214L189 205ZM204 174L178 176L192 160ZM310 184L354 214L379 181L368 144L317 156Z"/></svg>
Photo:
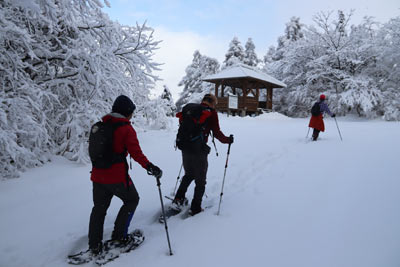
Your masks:
<svg viewBox="0 0 400 267"><path fill-rule="evenodd" d="M189 103L182 109L176 146L182 151L198 153L209 152L210 148L205 142L204 129L211 109L201 104Z"/></svg>

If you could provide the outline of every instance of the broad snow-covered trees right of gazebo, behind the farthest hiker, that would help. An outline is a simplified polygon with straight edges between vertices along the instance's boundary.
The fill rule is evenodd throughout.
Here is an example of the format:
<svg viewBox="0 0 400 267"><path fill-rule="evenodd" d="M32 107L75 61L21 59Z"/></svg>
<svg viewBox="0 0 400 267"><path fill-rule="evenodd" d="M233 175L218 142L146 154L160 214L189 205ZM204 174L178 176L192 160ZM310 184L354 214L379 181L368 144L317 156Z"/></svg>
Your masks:
<svg viewBox="0 0 400 267"><path fill-rule="evenodd" d="M352 12L338 11L336 19L332 19L332 12L318 13L315 25L306 27L301 38L289 40L285 34L277 49L270 48L264 57L264 70L288 85L275 90L276 110L291 116L308 116L312 103L325 93L332 109L341 115L393 114L386 115L386 119L398 115L393 108L396 101L387 101L387 94L392 96L389 99L396 99L397 81L389 82L388 78L399 60L383 52L388 49L388 54L395 55L398 51L398 46L391 46L398 28L391 27L392 34L377 30L371 18L350 26L351 15Z"/></svg>

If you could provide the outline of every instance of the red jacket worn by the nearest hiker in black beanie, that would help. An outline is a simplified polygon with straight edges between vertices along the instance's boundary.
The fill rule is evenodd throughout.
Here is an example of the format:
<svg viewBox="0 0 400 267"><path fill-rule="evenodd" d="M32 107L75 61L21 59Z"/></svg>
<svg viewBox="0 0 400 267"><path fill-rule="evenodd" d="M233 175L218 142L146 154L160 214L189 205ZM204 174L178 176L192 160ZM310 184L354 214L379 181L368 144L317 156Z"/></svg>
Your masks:
<svg viewBox="0 0 400 267"><path fill-rule="evenodd" d="M117 113L111 113L103 117L103 121L129 122L129 120ZM114 132L113 150L115 153L128 151L131 157L143 168L146 168L149 160L143 154L135 130L131 124L118 127ZM126 155L128 155L128 153ZM115 163L109 169L92 168L90 179L101 184L126 183L126 166L124 162Z"/></svg>

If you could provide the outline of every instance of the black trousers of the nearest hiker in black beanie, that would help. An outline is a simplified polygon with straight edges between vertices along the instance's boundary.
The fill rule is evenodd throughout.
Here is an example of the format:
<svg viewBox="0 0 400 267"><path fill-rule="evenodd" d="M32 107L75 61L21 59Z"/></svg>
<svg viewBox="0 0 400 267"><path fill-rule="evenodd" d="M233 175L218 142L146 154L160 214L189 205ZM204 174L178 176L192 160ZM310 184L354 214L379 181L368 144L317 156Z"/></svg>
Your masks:
<svg viewBox="0 0 400 267"><path fill-rule="evenodd" d="M123 205L114 224L112 239L126 236L129 224L139 203L139 194L133 184L99 184L93 182L93 209L89 222L89 248L96 248L103 240L104 219L113 196L119 197Z"/></svg>

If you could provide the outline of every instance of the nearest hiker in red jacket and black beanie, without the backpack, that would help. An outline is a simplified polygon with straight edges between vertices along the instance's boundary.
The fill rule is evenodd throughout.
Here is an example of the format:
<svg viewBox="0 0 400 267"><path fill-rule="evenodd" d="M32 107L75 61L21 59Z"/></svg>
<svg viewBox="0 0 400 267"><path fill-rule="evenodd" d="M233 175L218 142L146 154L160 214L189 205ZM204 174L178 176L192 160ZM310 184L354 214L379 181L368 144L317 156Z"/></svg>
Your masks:
<svg viewBox="0 0 400 267"><path fill-rule="evenodd" d="M121 245L131 242L128 227L139 203L139 195L129 177L128 154L138 162L150 175L161 178L162 171L153 165L143 154L136 132L130 119L136 106L124 95L115 99L112 112L103 117L103 122L119 123L113 134L114 155L123 155L114 160L110 168L92 168L90 179L93 182L93 209L89 222L89 250L96 256L102 251L103 226L108 207L113 196L123 201L114 224L111 239ZM93 131L93 128L92 128Z"/></svg>

